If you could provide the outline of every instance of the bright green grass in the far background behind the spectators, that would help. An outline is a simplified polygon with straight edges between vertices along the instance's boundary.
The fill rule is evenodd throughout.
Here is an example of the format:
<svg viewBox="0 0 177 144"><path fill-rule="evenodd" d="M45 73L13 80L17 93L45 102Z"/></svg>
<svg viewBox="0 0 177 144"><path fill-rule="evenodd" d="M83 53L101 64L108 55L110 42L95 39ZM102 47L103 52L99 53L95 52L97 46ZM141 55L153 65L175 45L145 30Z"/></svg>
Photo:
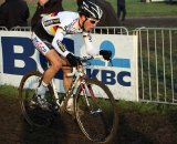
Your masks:
<svg viewBox="0 0 177 144"><path fill-rule="evenodd" d="M76 11L76 0L64 0L64 10ZM115 11L117 11L117 0L106 0L108 1ZM37 8L37 0L28 2L30 8L31 17L33 16ZM170 4L166 2L150 2L145 3L140 0L126 0L127 17L162 17L162 16L177 16L177 4Z"/></svg>

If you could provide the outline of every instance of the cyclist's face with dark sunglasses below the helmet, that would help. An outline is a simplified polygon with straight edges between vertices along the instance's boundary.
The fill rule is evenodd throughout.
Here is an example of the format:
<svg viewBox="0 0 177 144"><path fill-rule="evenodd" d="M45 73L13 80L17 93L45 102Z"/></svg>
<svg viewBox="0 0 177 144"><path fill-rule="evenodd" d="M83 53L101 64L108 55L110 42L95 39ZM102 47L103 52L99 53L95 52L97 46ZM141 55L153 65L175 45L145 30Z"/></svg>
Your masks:
<svg viewBox="0 0 177 144"><path fill-rule="evenodd" d="M86 19L86 18L85 18ZM84 29L86 32L91 32L97 24L98 20L87 18L84 23Z"/></svg>

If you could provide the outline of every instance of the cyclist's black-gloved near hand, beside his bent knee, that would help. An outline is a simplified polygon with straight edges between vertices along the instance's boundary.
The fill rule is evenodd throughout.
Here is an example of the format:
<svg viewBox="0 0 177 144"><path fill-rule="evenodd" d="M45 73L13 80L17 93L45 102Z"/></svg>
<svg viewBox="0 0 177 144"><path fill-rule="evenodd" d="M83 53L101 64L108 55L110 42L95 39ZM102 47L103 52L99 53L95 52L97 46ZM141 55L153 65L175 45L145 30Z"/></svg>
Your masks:
<svg viewBox="0 0 177 144"><path fill-rule="evenodd" d="M74 56L72 53L69 53L66 55L66 59L69 61L69 63L72 65L72 66L79 66L81 65L81 61L79 58Z"/></svg>

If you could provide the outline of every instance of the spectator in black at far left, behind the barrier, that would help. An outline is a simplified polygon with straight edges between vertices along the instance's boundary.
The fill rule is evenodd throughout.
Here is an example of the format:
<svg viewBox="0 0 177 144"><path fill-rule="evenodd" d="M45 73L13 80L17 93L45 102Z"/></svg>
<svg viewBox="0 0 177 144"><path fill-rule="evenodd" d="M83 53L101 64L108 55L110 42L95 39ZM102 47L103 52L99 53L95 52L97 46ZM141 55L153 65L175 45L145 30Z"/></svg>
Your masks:
<svg viewBox="0 0 177 144"><path fill-rule="evenodd" d="M28 4L24 0L6 0L0 6L0 27L10 30L13 27L27 27L30 17Z"/></svg>

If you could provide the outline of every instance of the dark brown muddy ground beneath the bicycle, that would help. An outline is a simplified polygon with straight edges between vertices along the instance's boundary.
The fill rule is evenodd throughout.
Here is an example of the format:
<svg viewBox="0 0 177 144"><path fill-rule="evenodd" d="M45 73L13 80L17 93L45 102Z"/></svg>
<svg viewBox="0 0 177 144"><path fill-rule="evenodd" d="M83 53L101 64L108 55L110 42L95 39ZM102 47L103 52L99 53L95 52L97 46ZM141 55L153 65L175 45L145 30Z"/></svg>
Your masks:
<svg viewBox="0 0 177 144"><path fill-rule="evenodd" d="M9 96L8 96L9 97ZM45 128L31 128L18 100L0 95L0 144L93 144L65 114ZM167 115L119 111L115 144L177 144L177 112Z"/></svg>

